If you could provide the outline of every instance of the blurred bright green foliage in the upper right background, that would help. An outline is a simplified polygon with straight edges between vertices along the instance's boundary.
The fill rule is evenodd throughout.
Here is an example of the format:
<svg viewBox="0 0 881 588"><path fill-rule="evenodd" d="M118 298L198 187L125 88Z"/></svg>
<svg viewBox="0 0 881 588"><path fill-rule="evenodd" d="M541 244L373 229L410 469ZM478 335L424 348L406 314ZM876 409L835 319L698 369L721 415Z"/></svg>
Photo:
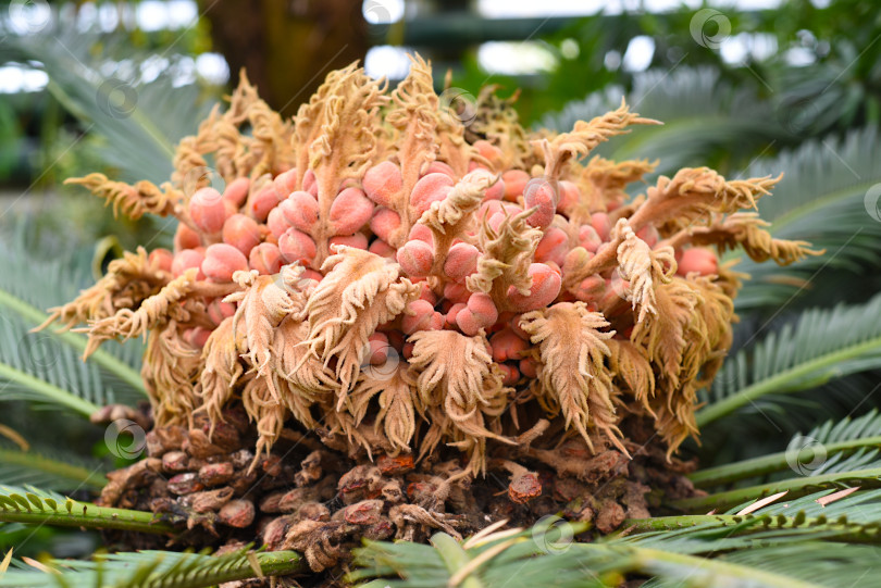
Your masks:
<svg viewBox="0 0 881 588"><path fill-rule="evenodd" d="M634 37L647 36L655 45L649 70L670 73L682 66L712 66L721 80L754 89L778 107L781 116L803 127L799 130L805 133L792 137L791 143L881 121L881 42L877 42L881 11L877 2L834 0L817 8L810 0L794 0L771 10L724 8L714 12L708 20L685 7L665 13L574 20L538 40L556 58L553 72L531 76L524 85L522 78L483 71L472 53L454 85L471 92L487 83L522 88L518 111L532 124L547 112L610 85L631 90L635 73L623 68L622 59ZM729 38L744 43L743 60L729 63L714 47ZM768 43L772 49L768 54L750 51Z"/></svg>

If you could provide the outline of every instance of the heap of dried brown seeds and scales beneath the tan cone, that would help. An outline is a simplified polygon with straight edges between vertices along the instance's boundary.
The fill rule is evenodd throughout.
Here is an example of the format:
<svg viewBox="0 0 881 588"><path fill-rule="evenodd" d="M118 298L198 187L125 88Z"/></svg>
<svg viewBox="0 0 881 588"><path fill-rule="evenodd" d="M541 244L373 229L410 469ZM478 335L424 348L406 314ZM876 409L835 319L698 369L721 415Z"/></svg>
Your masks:
<svg viewBox="0 0 881 588"><path fill-rule="evenodd" d="M203 414L190 429L154 427L148 456L112 473L101 492L102 505L152 511L182 533L166 545L108 531L109 545L223 551L256 541L302 552L314 573L308 585L334 586L364 538L424 541L438 530L463 537L502 520L523 526L557 513L606 534L625 518L649 516L661 493L696 493L684 476L694 463L668 461L645 441L625 440L624 453L605 435L595 436L593 449L576 436L551 449L492 450L486 476L472 478L462 475L468 460L457 448L420 462L404 452L371 460L332 449L326 429L307 433L293 421L300 428L283 427L269 455L255 462L259 433L244 408L226 408L221 417L211 441ZM623 430L654 436L647 420L629 420Z"/></svg>

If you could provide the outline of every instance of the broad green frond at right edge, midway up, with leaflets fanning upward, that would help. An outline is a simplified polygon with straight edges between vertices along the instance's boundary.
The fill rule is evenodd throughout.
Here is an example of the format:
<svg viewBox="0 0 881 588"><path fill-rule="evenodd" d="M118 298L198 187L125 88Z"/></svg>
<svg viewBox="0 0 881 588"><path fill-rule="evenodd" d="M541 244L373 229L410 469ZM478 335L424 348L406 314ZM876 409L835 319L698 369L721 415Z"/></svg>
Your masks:
<svg viewBox="0 0 881 588"><path fill-rule="evenodd" d="M697 412L699 427L772 393L815 388L881 367L881 295L865 304L804 311L794 323L729 358Z"/></svg>

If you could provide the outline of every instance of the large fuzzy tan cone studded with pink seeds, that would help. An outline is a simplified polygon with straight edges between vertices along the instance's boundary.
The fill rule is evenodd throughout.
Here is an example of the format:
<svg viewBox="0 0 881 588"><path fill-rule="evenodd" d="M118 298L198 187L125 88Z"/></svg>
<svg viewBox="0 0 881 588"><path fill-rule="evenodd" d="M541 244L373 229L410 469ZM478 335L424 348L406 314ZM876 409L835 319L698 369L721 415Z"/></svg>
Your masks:
<svg viewBox="0 0 881 588"><path fill-rule="evenodd" d="M626 453L628 414L673 452L731 343L740 276L707 247L817 253L741 212L779 178L684 168L631 200L654 164L587 155L655 121L622 103L530 134L482 92L467 126L433 88L419 58L392 91L351 65L287 121L243 76L170 183L70 180L179 226L174 251L126 253L47 324L86 323L86 355L145 336L156 425L216 424L240 402L258 456L290 417L352 453L456 447L459 476L496 443Z"/></svg>

